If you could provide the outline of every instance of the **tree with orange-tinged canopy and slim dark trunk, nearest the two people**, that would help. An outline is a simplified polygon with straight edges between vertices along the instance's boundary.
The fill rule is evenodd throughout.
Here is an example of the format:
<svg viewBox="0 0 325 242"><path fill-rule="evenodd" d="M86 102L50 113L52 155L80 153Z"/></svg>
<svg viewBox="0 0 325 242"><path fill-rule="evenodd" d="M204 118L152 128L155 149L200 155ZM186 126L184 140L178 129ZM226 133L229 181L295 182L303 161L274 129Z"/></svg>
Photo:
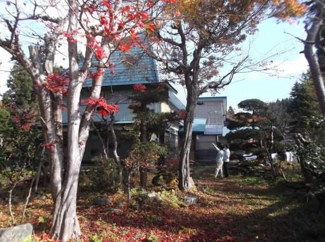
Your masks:
<svg viewBox="0 0 325 242"><path fill-rule="evenodd" d="M187 89L184 138L179 163L179 188L190 189L189 151L194 109L198 97L230 84L236 73L267 70L267 59L254 62L239 45L257 31L261 21L276 17L289 20L305 8L291 1L177 1L166 10L170 18L153 28L159 45L150 55L158 60L171 79Z"/></svg>

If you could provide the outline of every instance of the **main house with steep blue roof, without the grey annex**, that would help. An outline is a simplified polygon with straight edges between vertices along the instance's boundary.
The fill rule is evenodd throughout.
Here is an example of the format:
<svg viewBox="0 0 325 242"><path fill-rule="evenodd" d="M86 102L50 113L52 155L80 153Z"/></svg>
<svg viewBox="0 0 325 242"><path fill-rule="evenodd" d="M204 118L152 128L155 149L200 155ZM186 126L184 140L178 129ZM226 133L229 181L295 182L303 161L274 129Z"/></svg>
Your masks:
<svg viewBox="0 0 325 242"><path fill-rule="evenodd" d="M155 112L174 112L185 108L185 99L179 97L177 90L173 86L159 80L154 59L148 57L142 49L133 48L129 52L115 51L112 54L110 61L113 62L114 66L105 72L101 96L104 96L109 103L116 103L120 109L119 113L114 114L115 130L127 130L134 122L133 115L128 109L128 106L131 104L134 84L143 84L146 85L147 88L151 88L151 84L164 86L166 95L169 97L168 101L151 104L149 108ZM91 68L90 71L94 72L95 67ZM89 97L89 88L91 87L91 83L91 79L87 79L82 88L80 98L81 113L85 110L85 104L82 102L82 100ZM63 111L62 120L63 127L65 126L65 128L67 128L67 119L67 112ZM110 122L109 117L108 119ZM104 123L102 117L96 114L93 117L93 121L94 123ZM169 142L172 146L178 148L178 130L180 125L181 124L178 122L169 122L166 127L165 135L163 137L159 137L160 142ZM113 141L111 137L104 135L103 138L104 142L108 141L109 144L112 144ZM131 148L131 146L131 140L123 137L118 139L117 153L121 159L126 157L127 151ZM83 162L89 162L96 154L99 153L103 153L102 143L100 142L95 130L91 128L86 143ZM109 150L109 156L113 157L112 149Z"/></svg>

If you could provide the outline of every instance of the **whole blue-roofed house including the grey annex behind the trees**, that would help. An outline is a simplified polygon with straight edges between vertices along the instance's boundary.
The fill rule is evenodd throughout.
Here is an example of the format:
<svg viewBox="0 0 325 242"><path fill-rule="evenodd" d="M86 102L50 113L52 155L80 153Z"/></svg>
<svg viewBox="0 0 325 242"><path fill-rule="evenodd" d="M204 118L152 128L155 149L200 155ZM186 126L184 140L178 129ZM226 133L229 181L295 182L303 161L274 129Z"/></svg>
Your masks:
<svg viewBox="0 0 325 242"><path fill-rule="evenodd" d="M133 95L133 85L143 84L150 88L150 84L163 85L168 95L167 102L153 103L150 109L155 112L174 112L185 109L186 91L184 87L171 85L159 79L154 59L148 57L142 49L133 48L129 52L115 51L110 58L114 67L106 70L102 85L102 94L110 103L117 103L120 111L114 114L115 130L126 130L133 124L133 115L129 111L128 106L131 104L131 96ZM92 72L95 68L92 68ZM87 79L81 93L80 111L84 111L82 100L89 97L89 88L91 87L91 79ZM220 142L225 144L224 125L226 115L226 97L200 97L195 110L195 119L193 124L193 135L190 150L190 159L198 162L213 162L215 160L216 151L211 143ZM64 120L67 120L67 113L63 112ZM95 123L103 123L101 117L95 115L93 117ZM183 132L181 123L169 122L165 135L159 137L162 143L170 143L171 146L180 147L180 137ZM111 137L105 137L108 143L112 143ZM123 159L127 155L127 151L131 148L132 142L128 139L120 137L118 139L117 153ZM95 130L90 129L89 137L86 143L86 149L83 162L90 161L96 154L103 153L103 147ZM112 149L109 156L113 157Z"/></svg>

